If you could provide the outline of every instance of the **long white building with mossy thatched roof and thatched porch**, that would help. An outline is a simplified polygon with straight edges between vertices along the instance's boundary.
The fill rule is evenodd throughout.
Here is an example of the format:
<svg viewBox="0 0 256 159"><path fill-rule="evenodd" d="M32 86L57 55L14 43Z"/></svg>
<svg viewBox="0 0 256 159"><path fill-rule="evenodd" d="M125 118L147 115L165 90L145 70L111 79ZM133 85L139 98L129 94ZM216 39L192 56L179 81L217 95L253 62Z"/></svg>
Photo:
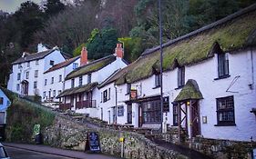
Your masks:
<svg viewBox="0 0 256 159"><path fill-rule="evenodd" d="M160 48L148 49L100 84L100 94L116 91L109 104L103 95L99 117L156 129L162 117L164 132L176 129L179 139L255 141L255 46L256 5L164 44L163 116Z"/></svg>

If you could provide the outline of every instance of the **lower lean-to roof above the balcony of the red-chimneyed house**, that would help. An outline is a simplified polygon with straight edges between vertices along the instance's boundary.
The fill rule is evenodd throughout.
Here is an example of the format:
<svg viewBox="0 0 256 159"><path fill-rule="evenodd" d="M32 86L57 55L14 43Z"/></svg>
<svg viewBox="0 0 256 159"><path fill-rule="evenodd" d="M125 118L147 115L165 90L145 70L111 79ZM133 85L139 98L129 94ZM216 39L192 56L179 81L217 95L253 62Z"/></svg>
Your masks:
<svg viewBox="0 0 256 159"><path fill-rule="evenodd" d="M79 94L79 93L83 93L83 92L88 92L88 91L93 90L95 87L97 87L97 83L90 83L90 84L77 86L77 87L70 88L70 89L63 91L62 93L58 94L56 96L56 98L60 98L62 96L67 96L70 94Z"/></svg>

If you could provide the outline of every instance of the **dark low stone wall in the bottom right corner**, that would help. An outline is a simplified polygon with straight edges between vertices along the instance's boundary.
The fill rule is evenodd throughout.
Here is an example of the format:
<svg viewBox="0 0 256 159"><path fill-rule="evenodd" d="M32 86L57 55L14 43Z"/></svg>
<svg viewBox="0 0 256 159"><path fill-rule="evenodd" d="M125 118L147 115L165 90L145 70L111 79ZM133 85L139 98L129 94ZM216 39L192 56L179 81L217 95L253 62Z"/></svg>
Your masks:
<svg viewBox="0 0 256 159"><path fill-rule="evenodd" d="M213 158L250 159L252 149L256 148L256 142L237 142L195 137L190 147Z"/></svg>

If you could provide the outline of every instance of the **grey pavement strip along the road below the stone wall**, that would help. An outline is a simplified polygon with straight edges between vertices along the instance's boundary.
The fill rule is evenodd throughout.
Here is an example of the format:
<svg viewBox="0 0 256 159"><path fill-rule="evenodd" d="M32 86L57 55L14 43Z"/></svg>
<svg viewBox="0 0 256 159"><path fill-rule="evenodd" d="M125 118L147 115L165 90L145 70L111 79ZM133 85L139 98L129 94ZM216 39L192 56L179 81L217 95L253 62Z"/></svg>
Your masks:
<svg viewBox="0 0 256 159"><path fill-rule="evenodd" d="M18 148L22 150L33 151L43 154L54 154L63 157L77 158L77 159L120 159L110 154L86 154L84 152L64 150L55 147L50 147L41 144L14 144L14 143L2 143L5 147Z"/></svg>

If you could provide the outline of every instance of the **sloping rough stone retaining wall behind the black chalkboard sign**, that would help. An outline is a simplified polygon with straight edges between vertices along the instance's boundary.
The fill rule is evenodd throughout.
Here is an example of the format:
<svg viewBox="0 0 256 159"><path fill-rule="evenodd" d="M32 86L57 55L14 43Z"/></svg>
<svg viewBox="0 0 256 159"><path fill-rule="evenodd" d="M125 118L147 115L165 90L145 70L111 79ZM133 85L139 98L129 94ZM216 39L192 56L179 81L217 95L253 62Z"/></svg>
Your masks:
<svg viewBox="0 0 256 159"><path fill-rule="evenodd" d="M179 159L186 158L177 152L159 147L143 135L117 131L107 128L90 129L69 118L68 116L56 116L53 126L43 132L45 144L52 146L85 151L88 132L98 132L101 150L105 154L121 156L119 137L124 137L124 157L133 159Z"/></svg>

